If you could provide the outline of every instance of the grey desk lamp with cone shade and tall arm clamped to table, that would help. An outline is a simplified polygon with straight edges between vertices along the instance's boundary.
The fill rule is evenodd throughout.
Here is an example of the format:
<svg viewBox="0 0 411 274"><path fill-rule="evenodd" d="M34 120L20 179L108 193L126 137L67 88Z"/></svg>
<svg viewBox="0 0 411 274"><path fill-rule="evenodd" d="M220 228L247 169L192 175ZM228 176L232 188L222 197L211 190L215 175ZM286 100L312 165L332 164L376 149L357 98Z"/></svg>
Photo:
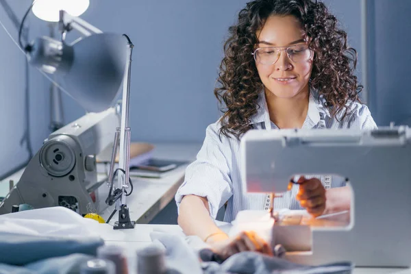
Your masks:
<svg viewBox="0 0 411 274"><path fill-rule="evenodd" d="M53 2L55 5L45 5L49 2ZM61 5L58 5L58 3ZM34 1L30 9L32 8L34 14L40 18L45 18L48 21L55 20L55 12L58 11L61 40L42 36L36 38L31 44L25 47L21 45L21 47L23 47L27 54L29 64L36 66L45 73L55 75L60 88L71 95L88 112L101 112L112 106L119 95L119 88L123 82L121 127L117 128L114 135L114 146L108 177L110 193L105 202L109 206L116 203L114 212L119 210L119 221L114 224L114 229L134 228L135 222L130 221L126 205L126 196L130 195L133 190L129 180L131 131L128 126L128 112L129 77L134 45L125 34L103 33L100 29L90 25L81 18L69 14L69 12L64 10L67 7L65 3L79 3L77 6L79 9L75 11L77 14L84 12L88 6L88 1L81 0ZM30 9L27 10L25 17ZM23 21L25 17L23 17ZM23 25L23 22L21 25ZM66 43L66 33L73 29L77 30L82 37L71 44ZM119 169L114 171L114 159L119 143ZM118 188L112 192L114 177L118 171L121 171L123 174L119 174ZM132 186L132 190L129 193L126 191L128 188L127 181Z"/></svg>

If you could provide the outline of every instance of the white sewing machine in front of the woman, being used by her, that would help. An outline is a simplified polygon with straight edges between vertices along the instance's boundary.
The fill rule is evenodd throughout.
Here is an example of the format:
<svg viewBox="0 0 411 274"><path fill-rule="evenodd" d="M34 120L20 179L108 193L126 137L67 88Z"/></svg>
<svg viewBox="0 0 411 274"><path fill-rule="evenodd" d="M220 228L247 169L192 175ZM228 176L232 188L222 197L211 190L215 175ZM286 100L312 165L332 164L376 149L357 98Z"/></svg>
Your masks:
<svg viewBox="0 0 411 274"><path fill-rule="evenodd" d="M316 219L302 211L277 215L271 244L283 245L288 260L410 266L408 127L251 130L242 138L241 150L247 192L277 195L288 190L294 175L314 174L343 176L352 188L349 212Z"/></svg>

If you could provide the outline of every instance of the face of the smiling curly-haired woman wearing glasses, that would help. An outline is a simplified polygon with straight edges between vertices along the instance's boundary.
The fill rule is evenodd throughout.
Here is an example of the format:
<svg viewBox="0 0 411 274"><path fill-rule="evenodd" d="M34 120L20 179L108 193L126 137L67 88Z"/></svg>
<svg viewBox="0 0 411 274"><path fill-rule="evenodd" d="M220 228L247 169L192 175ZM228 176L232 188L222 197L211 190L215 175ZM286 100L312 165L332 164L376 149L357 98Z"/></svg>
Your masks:
<svg viewBox="0 0 411 274"><path fill-rule="evenodd" d="M312 59L314 54L306 49L306 37L303 34L301 23L295 16L270 16L267 18L264 27L257 33L258 50L257 60L278 60L274 64L261 64L256 62L258 75L266 88L266 92L271 92L276 97L292 98L301 92L308 92L308 80L312 70ZM291 53L290 60L286 53L286 47L296 47L288 49ZM299 46L298 46L299 45ZM283 51L276 51L275 48L282 47ZM264 49L265 48L265 49ZM301 55L302 49L306 49L306 54ZM270 58L268 56L271 56ZM297 56L295 58L294 56Z"/></svg>

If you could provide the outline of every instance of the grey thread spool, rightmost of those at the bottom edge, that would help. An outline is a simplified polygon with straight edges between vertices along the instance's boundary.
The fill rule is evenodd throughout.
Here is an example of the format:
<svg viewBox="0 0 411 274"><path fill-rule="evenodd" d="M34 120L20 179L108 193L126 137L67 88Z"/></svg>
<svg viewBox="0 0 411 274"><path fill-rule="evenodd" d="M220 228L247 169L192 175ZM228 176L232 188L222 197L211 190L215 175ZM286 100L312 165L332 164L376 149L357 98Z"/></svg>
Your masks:
<svg viewBox="0 0 411 274"><path fill-rule="evenodd" d="M137 251L138 274L164 274L166 273L164 250L155 245L150 245Z"/></svg>

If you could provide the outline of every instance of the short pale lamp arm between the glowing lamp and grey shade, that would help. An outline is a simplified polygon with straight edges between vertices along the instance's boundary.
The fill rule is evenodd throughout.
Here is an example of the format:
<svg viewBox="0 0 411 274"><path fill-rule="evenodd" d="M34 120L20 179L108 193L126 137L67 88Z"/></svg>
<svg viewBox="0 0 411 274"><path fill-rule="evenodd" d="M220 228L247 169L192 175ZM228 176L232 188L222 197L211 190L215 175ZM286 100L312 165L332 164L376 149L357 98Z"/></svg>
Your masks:
<svg viewBox="0 0 411 274"><path fill-rule="evenodd" d="M82 18L71 16L64 10L60 10L60 21L58 22L59 29L62 34L71 29L77 30L83 36L90 36L92 34L102 34L100 29L87 23Z"/></svg>

